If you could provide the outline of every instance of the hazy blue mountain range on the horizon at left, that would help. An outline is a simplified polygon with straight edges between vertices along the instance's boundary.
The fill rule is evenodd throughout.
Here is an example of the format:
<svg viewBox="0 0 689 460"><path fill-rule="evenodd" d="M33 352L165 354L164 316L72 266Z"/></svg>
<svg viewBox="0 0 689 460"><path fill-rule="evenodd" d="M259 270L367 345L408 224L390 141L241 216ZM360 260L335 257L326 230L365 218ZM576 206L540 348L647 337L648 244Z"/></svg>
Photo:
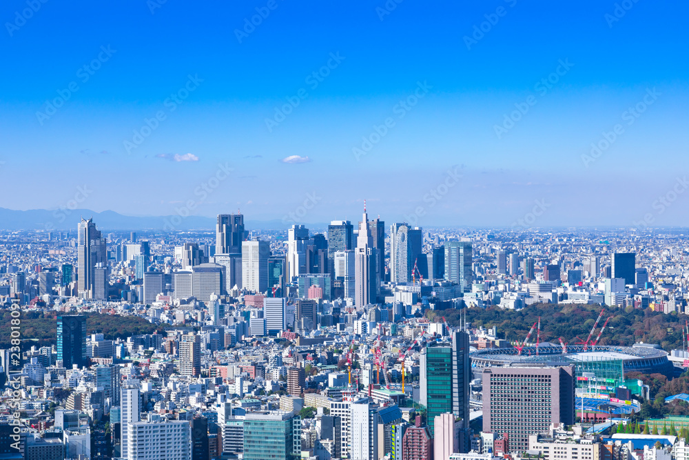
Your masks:
<svg viewBox="0 0 689 460"><path fill-rule="evenodd" d="M96 226L103 232L118 230L214 230L216 219L202 216L123 216L114 211L95 212L89 209L17 211L0 208L0 229L2 230L76 230L79 219L93 217ZM280 219L272 221L245 221L247 230L285 230L291 222ZM309 224L309 228L327 228L325 223Z"/></svg>

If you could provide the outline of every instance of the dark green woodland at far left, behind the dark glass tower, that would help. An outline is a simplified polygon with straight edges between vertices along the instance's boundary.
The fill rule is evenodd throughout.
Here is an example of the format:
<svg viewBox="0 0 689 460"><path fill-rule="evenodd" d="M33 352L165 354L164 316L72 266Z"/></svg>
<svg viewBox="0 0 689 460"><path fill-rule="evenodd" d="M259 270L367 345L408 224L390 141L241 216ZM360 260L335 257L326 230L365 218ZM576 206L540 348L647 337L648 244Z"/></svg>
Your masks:
<svg viewBox="0 0 689 460"><path fill-rule="evenodd" d="M136 334L165 334L165 330L140 317L123 317L116 314L85 314L88 333L102 332L105 339L126 339ZM0 319L0 348L10 347L10 311L2 312ZM57 339L56 312L23 312L21 317L21 334L24 347L32 345L52 346Z"/></svg>

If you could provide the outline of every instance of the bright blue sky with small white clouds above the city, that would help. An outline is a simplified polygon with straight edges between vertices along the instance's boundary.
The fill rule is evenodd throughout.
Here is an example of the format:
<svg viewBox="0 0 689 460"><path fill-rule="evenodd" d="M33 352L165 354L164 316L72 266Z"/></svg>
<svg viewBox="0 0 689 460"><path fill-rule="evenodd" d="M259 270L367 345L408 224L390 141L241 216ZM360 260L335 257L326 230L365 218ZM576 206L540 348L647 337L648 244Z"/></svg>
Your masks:
<svg viewBox="0 0 689 460"><path fill-rule="evenodd" d="M3 1L0 207L686 225L689 2L398 1Z"/></svg>

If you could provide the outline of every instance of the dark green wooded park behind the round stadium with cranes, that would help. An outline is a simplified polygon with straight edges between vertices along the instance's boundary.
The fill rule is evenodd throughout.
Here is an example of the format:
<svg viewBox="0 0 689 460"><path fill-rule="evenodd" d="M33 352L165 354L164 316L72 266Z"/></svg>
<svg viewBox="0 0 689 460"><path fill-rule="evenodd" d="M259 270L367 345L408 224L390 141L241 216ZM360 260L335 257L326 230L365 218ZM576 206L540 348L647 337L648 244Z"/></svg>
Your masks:
<svg viewBox="0 0 689 460"><path fill-rule="evenodd" d="M556 303L539 303L522 310L503 310L498 307L467 308L466 310L428 310L431 321L442 321L445 317L450 326L460 324L460 314L466 312L466 321L471 327L497 327L498 337L508 341L523 341L533 323L541 317L541 341L575 343L575 337L586 340L588 333L601 311L600 306ZM599 344L632 346L634 343L657 343L664 350L682 348L682 328L689 316L675 312L665 314L650 308L606 308L596 334L610 316L608 326ZM595 337L595 336L594 336ZM532 336L535 339L535 336Z"/></svg>

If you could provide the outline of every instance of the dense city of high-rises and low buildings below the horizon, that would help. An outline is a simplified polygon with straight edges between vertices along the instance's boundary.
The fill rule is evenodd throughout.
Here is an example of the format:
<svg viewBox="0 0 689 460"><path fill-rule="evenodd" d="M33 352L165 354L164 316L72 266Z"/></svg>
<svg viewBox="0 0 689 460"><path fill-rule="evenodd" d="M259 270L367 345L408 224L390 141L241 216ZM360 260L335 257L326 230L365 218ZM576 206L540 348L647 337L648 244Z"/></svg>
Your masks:
<svg viewBox="0 0 689 460"><path fill-rule="evenodd" d="M0 230L0 459L689 459L681 229Z"/></svg>

